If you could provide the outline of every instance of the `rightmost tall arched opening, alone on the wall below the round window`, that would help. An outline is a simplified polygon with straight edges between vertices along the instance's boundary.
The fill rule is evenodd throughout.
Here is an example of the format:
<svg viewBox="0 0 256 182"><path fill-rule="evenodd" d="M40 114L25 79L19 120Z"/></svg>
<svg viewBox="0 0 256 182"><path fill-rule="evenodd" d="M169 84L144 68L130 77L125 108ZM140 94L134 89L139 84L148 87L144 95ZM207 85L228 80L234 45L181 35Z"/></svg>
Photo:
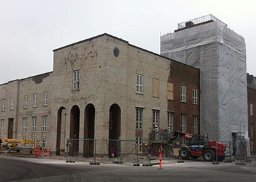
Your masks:
<svg viewBox="0 0 256 182"><path fill-rule="evenodd" d="M121 133L121 109L119 105L112 104L109 109L109 145L108 151L111 154L119 153L119 137Z"/></svg>

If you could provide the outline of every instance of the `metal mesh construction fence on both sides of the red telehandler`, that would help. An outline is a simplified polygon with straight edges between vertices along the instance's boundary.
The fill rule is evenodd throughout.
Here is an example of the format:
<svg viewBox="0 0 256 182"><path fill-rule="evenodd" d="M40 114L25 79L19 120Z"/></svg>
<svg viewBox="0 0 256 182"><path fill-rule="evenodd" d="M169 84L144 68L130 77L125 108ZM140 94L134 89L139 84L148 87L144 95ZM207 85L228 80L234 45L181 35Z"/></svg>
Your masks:
<svg viewBox="0 0 256 182"><path fill-rule="evenodd" d="M244 139L231 141L218 141L225 143L226 158L247 157L247 143ZM181 145L180 145L181 144ZM183 143L177 139L171 143L149 140L115 140L115 139L67 139L66 160L75 161L77 158L87 158L90 162L131 162L150 164L158 160L161 153L165 160L174 160L179 157L179 150Z"/></svg>

